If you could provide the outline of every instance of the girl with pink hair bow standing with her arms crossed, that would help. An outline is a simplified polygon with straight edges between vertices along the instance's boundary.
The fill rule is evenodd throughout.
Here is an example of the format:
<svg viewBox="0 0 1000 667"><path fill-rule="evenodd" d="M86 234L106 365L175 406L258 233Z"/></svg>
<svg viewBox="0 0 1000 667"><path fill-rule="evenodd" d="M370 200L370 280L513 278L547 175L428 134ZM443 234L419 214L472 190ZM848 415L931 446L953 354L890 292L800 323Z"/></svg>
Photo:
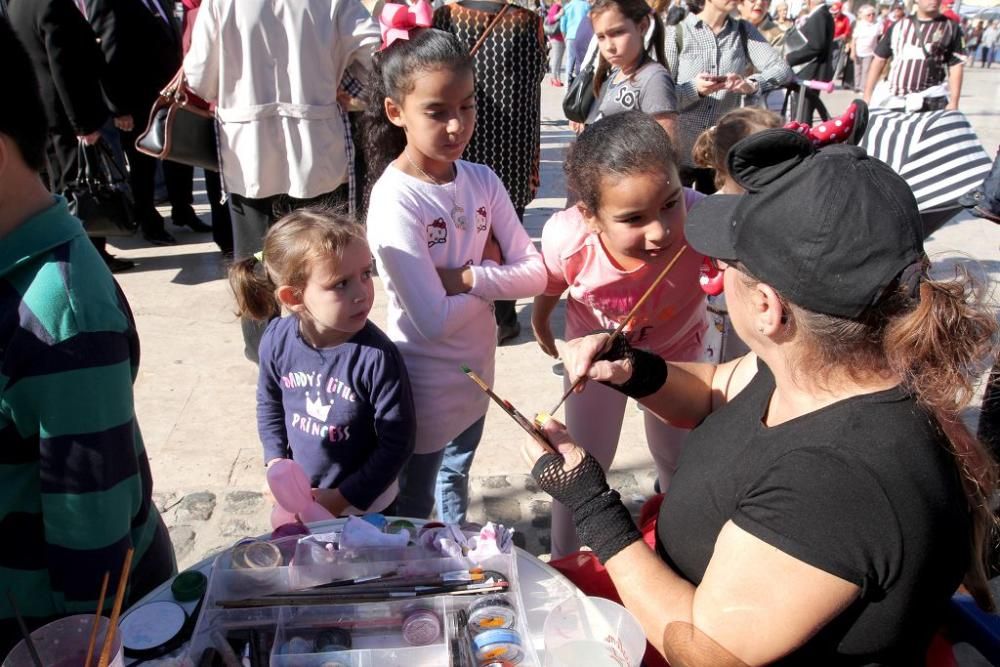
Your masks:
<svg viewBox="0 0 1000 667"><path fill-rule="evenodd" d="M379 176L368 240L389 295L386 333L406 362L417 411L414 454L399 477L396 511L463 523L469 470L489 399L462 372L493 382L493 302L532 297L545 266L493 171L461 160L476 123L472 60L450 33L387 30L409 12L387 4L386 45L367 93L369 169ZM404 20L397 17L397 23Z"/></svg>

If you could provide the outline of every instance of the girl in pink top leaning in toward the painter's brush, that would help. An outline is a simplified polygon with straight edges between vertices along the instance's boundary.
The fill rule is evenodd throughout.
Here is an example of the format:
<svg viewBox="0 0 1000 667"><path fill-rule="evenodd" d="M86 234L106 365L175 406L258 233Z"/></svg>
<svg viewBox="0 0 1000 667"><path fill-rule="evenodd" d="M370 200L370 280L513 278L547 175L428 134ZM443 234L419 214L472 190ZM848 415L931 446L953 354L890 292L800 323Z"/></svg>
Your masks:
<svg viewBox="0 0 1000 667"><path fill-rule="evenodd" d="M681 187L670 140L650 116L609 116L580 135L566 160L568 187L581 201L556 213L542 231L548 272L535 298L532 327L542 349L558 355L549 324L564 292L566 339L623 321L663 268L685 245L687 209L702 198ZM702 257L684 251L626 328L629 342L670 361L711 359L718 331L709 329L698 286ZM709 335L711 333L711 335ZM618 447L626 398L595 382L566 402L574 440L607 469ZM663 490L676 467L686 431L645 415L646 439ZM579 548L569 513L552 507L552 557Z"/></svg>

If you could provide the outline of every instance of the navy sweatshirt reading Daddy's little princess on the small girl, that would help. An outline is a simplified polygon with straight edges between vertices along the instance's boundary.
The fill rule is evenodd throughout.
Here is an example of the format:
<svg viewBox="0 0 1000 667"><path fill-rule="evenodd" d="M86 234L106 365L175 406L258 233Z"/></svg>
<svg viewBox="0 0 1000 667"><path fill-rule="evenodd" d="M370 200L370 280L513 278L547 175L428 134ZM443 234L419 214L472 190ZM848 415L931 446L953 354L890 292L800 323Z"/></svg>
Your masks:
<svg viewBox="0 0 1000 667"><path fill-rule="evenodd" d="M260 341L257 429L264 461L293 458L312 486L365 509L413 453L416 416L396 345L368 322L316 349L298 319L272 320Z"/></svg>

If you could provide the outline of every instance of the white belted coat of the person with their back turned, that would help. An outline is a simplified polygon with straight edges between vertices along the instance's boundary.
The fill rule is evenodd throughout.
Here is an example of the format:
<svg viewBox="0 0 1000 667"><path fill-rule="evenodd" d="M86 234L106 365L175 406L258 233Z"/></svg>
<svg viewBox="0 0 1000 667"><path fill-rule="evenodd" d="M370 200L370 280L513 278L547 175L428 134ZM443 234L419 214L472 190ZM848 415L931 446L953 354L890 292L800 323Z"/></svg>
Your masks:
<svg viewBox="0 0 1000 667"><path fill-rule="evenodd" d="M205 0L184 72L216 104L227 190L304 199L345 183L337 88L380 41L359 0Z"/></svg>

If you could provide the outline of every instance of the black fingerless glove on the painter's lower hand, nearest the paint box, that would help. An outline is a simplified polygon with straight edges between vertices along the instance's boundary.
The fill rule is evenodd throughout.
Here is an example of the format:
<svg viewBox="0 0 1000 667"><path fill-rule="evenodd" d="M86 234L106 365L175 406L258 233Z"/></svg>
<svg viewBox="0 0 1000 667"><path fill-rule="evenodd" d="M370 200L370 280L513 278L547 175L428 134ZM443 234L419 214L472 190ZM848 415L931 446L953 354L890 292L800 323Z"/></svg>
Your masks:
<svg viewBox="0 0 1000 667"><path fill-rule="evenodd" d="M564 464L558 454L545 454L535 462L531 474L539 488L573 513L580 540L602 563L642 539L621 496L608 487L597 459L587 453L572 470L564 470Z"/></svg>

